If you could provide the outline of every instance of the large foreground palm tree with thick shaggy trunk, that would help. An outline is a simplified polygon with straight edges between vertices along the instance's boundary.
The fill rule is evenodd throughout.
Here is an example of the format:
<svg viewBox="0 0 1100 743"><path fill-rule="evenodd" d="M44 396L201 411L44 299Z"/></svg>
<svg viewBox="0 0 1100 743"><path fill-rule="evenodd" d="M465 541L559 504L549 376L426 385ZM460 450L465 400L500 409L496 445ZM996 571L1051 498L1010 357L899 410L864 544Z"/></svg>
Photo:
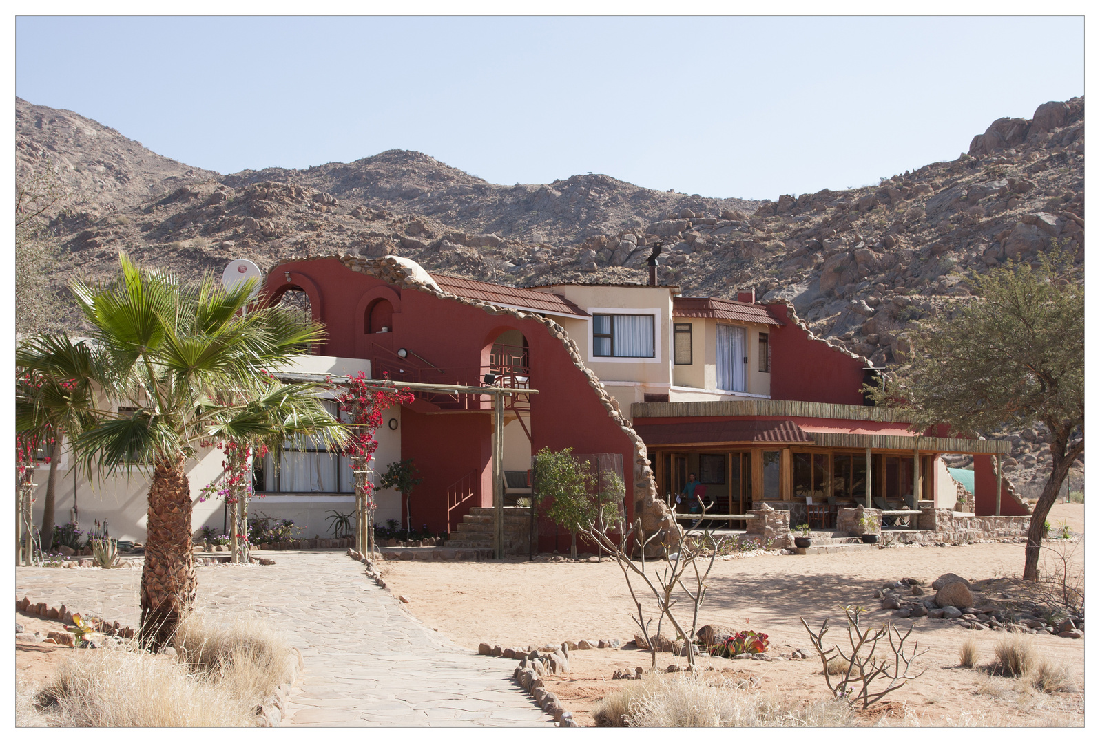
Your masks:
<svg viewBox="0 0 1100 743"><path fill-rule="evenodd" d="M317 397L320 385L279 385L267 373L320 341L320 323L278 307L250 307L254 281L227 290L207 273L182 285L167 273L139 269L125 255L120 263L122 275L110 284L70 285L95 329L94 381L125 409L95 411L95 425L73 447L89 472L151 470L140 637L160 647L195 598L184 463L196 445L320 434L339 446L346 428ZM16 361L33 372L45 359Z"/></svg>

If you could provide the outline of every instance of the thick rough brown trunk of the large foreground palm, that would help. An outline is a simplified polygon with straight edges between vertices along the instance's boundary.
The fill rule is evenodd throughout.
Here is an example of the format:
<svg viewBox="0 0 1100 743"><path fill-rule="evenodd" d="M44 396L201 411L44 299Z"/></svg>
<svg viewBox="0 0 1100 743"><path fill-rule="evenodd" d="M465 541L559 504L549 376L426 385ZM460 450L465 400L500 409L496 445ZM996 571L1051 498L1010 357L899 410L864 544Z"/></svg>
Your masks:
<svg viewBox="0 0 1100 743"><path fill-rule="evenodd" d="M141 574L142 645L158 650L195 600L191 556L191 489L184 457L157 462L148 488L145 567Z"/></svg>

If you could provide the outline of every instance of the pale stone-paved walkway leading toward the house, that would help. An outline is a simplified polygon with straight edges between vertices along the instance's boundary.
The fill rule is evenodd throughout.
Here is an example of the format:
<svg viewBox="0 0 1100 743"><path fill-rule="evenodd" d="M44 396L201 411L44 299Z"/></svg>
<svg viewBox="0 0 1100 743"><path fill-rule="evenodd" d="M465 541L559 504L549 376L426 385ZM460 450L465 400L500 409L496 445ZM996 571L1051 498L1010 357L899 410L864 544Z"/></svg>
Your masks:
<svg viewBox="0 0 1100 743"><path fill-rule="evenodd" d="M263 553L273 566L200 567L197 606L255 610L306 661L284 725L553 727L512 679L421 624L338 552ZM461 569L461 566L455 566ZM16 598L138 626L141 572L16 568Z"/></svg>

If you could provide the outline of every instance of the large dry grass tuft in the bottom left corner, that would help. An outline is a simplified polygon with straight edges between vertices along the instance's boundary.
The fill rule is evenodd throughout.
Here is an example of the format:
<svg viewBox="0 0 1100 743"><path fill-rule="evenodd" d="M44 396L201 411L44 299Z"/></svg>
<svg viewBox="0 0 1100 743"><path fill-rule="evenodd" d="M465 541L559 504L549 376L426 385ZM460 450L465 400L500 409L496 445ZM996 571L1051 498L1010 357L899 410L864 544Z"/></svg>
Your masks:
<svg viewBox="0 0 1100 743"><path fill-rule="evenodd" d="M248 728L253 703L165 656L118 647L72 658L35 698L51 727ZM34 724L33 722L31 724Z"/></svg>

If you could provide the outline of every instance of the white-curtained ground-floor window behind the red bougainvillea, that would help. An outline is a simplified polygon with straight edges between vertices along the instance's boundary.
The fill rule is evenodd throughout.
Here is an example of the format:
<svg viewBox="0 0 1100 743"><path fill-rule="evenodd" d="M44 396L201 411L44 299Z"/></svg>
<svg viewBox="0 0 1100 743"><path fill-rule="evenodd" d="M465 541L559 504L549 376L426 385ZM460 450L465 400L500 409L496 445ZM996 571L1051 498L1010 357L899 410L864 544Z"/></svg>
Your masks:
<svg viewBox="0 0 1100 743"><path fill-rule="evenodd" d="M324 400L336 417L340 406ZM346 417L343 417L346 418ZM330 452L320 436L299 436L283 444L278 467L275 453L264 457L265 492L354 492L351 457Z"/></svg>

